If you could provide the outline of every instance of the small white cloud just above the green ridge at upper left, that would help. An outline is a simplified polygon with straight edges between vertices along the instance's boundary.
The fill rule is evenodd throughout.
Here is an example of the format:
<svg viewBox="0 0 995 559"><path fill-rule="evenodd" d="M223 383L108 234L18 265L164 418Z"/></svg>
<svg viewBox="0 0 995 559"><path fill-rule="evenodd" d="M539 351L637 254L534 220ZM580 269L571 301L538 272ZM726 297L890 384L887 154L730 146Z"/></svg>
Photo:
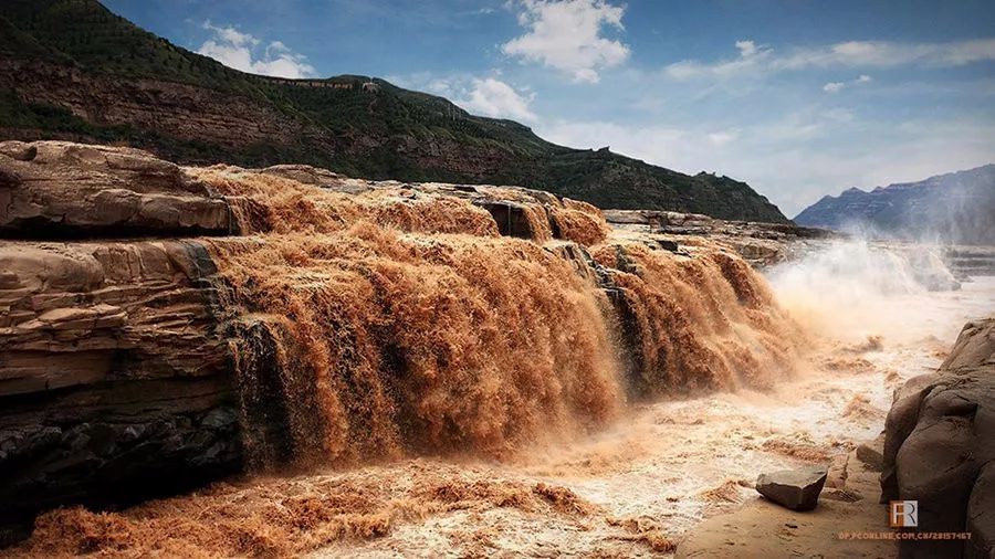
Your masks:
<svg viewBox="0 0 995 559"><path fill-rule="evenodd" d="M197 52L226 66L279 77L297 78L315 75L314 66L307 63L307 57L291 51L281 41L269 43L260 53L259 39L231 25L217 27L206 21L203 29L210 31L212 36L205 41Z"/></svg>

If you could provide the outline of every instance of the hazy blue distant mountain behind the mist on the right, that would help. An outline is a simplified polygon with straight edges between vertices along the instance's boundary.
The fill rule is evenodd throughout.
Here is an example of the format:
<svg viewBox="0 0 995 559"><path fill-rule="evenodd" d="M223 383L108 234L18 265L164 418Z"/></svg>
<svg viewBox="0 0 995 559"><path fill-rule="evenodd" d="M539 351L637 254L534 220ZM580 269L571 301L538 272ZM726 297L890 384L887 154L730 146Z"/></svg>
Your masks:
<svg viewBox="0 0 995 559"><path fill-rule="evenodd" d="M795 222L896 239L995 244L995 165L870 192L851 188L824 197Z"/></svg>

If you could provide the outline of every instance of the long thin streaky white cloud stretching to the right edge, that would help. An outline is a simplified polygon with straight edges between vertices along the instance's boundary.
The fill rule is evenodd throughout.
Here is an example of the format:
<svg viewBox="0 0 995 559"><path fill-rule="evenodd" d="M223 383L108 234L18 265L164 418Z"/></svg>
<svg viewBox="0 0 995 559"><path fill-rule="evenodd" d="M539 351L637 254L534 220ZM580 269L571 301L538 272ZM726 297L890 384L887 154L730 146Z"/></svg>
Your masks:
<svg viewBox="0 0 995 559"><path fill-rule="evenodd" d="M693 60L675 62L664 67L664 74L677 80L690 80L809 67L962 66L995 60L995 39L946 43L847 41L795 49L784 54L776 54L773 49L758 48L748 40L736 41L735 46L740 51L736 59L712 63ZM859 83L869 81L871 77L866 74L858 78Z"/></svg>

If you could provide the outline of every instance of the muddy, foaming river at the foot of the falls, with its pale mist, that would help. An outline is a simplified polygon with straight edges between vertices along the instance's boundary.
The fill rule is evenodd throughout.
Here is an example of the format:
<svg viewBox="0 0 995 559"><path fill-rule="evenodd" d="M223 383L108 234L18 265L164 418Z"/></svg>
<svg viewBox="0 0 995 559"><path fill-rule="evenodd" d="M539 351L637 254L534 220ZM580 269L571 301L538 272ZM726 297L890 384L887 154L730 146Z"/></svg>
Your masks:
<svg viewBox="0 0 995 559"><path fill-rule="evenodd" d="M928 292L903 278L867 280L873 259L846 273L837 264L768 272L781 305L814 339L769 390L630 405L594 435L500 462L390 460L237 479L121 514L56 511L40 520L29 549L91 538L105 551L188 556L233 547L313 557L672 551L702 519L757 498L758 473L828 464L877 436L892 391L934 370L965 321L995 314L995 277Z"/></svg>

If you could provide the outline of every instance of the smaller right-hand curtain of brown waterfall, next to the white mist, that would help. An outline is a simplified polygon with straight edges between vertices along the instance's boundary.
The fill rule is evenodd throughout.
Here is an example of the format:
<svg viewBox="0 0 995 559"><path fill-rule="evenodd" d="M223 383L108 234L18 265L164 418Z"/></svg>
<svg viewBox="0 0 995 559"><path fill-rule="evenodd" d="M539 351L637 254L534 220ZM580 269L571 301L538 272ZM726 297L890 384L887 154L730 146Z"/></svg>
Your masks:
<svg viewBox="0 0 995 559"><path fill-rule="evenodd" d="M622 287L630 376L645 397L763 388L783 378L804 341L765 282L742 259L690 259L639 243L595 257Z"/></svg>

